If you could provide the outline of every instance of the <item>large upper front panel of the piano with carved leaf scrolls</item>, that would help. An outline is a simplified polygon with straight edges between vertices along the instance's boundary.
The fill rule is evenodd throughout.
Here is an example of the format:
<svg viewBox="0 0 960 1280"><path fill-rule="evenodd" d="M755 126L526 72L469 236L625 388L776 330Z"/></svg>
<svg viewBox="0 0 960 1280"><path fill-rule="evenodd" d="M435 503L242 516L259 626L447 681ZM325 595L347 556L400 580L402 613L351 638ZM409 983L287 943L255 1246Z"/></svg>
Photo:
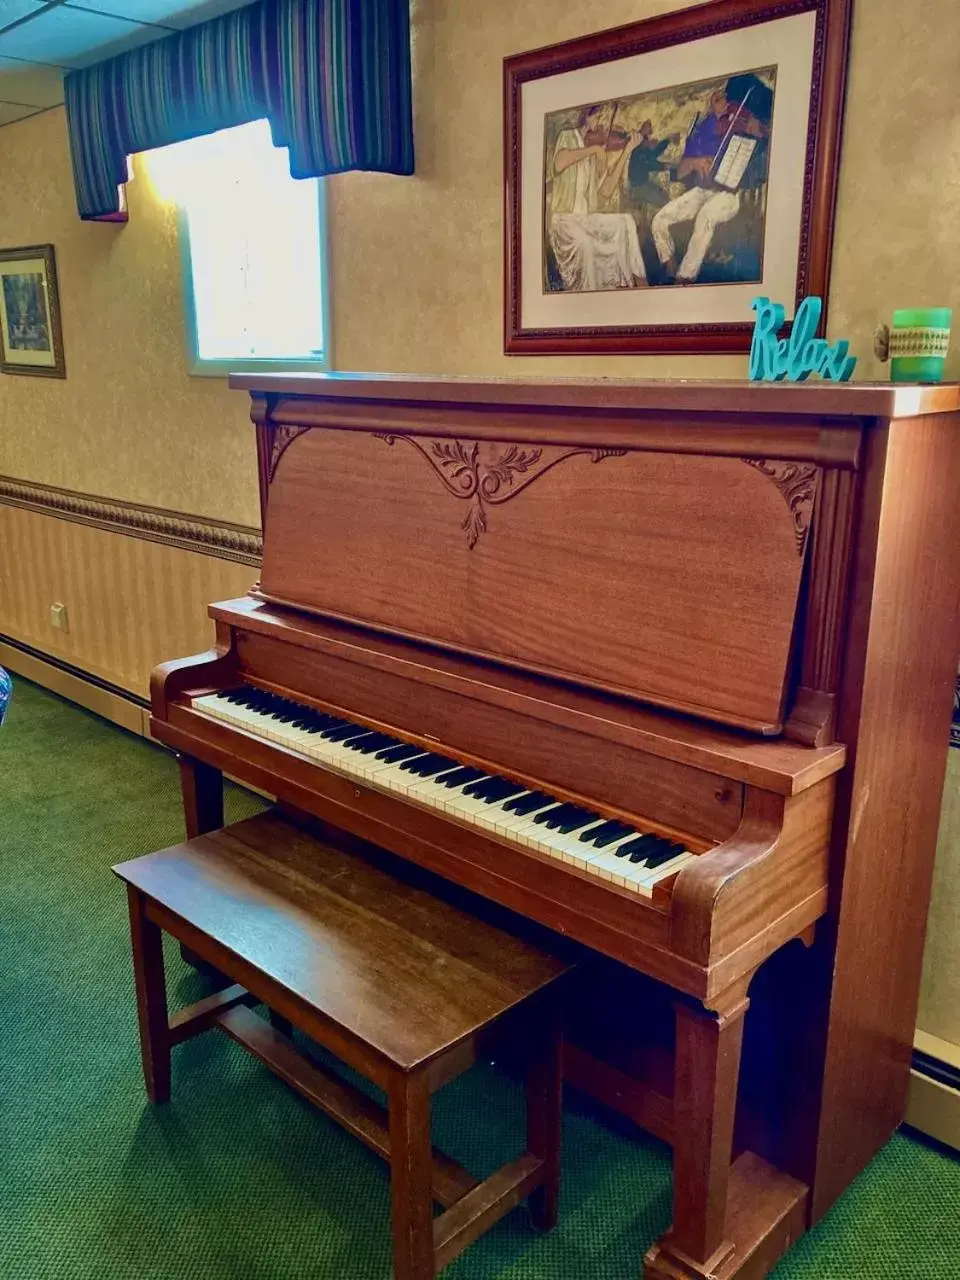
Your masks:
<svg viewBox="0 0 960 1280"><path fill-rule="evenodd" d="M312 428L274 467L269 599L781 724L815 466Z"/></svg>

